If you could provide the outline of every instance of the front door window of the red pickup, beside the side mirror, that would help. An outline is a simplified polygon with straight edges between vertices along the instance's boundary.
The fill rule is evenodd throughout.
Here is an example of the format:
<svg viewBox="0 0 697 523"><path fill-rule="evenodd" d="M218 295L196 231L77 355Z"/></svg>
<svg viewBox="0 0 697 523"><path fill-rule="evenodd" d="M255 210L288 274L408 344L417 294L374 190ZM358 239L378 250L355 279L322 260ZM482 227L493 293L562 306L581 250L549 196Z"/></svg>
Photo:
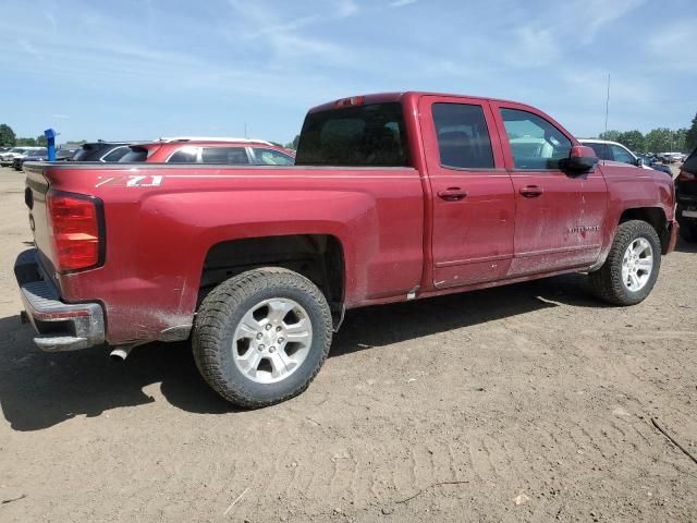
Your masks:
<svg viewBox="0 0 697 523"><path fill-rule="evenodd" d="M559 169L568 158L571 141L543 118L528 111L501 109L516 169Z"/></svg>

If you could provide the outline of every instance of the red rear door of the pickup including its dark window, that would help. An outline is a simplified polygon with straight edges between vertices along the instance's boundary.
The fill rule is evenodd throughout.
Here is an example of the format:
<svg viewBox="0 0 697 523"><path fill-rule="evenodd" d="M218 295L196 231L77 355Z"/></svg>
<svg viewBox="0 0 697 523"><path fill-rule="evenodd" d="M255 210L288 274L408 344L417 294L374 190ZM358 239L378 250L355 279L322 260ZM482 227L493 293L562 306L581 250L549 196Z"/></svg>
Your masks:
<svg viewBox="0 0 697 523"><path fill-rule="evenodd" d="M513 258L515 198L489 105L426 96L419 113L432 194L433 284L504 277Z"/></svg>

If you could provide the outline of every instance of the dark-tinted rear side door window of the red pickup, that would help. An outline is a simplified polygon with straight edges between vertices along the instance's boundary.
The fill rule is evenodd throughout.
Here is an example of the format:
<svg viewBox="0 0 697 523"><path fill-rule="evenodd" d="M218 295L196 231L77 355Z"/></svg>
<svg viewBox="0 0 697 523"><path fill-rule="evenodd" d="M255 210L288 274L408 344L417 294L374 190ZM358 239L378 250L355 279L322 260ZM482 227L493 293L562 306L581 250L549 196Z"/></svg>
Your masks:
<svg viewBox="0 0 697 523"><path fill-rule="evenodd" d="M433 104L440 163L455 169L493 169L493 150L481 106Z"/></svg>

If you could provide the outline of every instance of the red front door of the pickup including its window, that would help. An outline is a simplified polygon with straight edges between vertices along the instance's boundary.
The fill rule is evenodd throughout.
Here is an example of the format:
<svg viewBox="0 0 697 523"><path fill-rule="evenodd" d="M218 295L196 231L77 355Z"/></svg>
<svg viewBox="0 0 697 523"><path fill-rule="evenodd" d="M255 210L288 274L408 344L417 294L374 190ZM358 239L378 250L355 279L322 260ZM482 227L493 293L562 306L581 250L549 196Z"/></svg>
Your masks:
<svg viewBox="0 0 697 523"><path fill-rule="evenodd" d="M561 169L575 141L546 114L527 106L492 102L505 130L503 154L516 200L514 253L509 276L591 264L598 256L606 212L599 170Z"/></svg>

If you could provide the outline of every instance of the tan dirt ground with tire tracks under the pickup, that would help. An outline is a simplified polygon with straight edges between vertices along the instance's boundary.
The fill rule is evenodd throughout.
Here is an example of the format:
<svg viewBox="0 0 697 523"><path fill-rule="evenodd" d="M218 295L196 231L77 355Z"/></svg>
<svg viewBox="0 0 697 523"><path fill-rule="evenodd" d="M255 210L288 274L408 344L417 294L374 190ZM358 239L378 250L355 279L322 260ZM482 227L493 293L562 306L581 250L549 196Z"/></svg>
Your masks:
<svg viewBox="0 0 697 523"><path fill-rule="evenodd" d="M46 354L0 170L0 521L694 522L697 246L631 308L582 276L352 312L301 397L236 411L186 344Z"/></svg>

